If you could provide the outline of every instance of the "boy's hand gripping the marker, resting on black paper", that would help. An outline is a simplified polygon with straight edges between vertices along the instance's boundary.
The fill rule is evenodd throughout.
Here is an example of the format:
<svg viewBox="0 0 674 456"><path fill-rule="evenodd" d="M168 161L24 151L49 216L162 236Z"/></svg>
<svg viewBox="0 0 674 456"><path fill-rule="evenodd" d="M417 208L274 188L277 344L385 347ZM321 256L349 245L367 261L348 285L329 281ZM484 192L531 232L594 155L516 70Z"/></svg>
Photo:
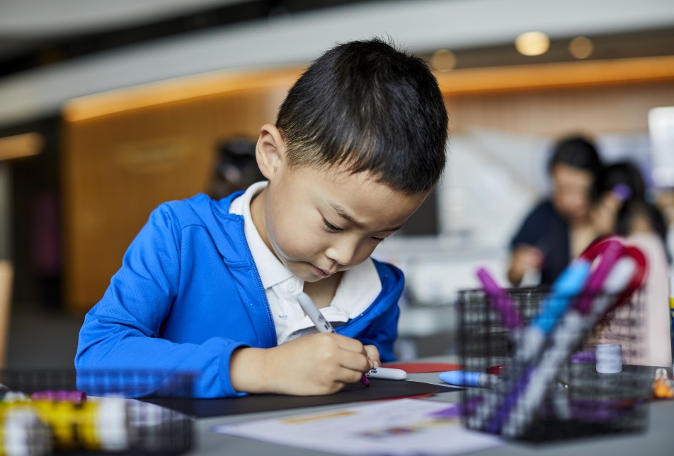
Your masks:
<svg viewBox="0 0 674 456"><path fill-rule="evenodd" d="M329 333L299 337L271 349L239 349L229 367L232 385L251 393L331 394L358 382L370 370L370 356L379 361L374 349L376 353L356 339Z"/></svg>

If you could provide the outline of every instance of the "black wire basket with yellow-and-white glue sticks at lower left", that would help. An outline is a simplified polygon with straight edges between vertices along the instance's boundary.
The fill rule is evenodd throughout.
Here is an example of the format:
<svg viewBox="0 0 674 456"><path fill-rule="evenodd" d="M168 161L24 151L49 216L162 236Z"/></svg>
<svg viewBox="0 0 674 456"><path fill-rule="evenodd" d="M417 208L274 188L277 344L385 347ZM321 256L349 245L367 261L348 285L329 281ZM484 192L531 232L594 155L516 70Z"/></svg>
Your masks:
<svg viewBox="0 0 674 456"><path fill-rule="evenodd" d="M193 448L194 420L139 392L189 397L194 375L157 371L0 372L0 445L6 454L178 455ZM92 396L78 390L105 390ZM0 451L2 453L2 451Z"/></svg>

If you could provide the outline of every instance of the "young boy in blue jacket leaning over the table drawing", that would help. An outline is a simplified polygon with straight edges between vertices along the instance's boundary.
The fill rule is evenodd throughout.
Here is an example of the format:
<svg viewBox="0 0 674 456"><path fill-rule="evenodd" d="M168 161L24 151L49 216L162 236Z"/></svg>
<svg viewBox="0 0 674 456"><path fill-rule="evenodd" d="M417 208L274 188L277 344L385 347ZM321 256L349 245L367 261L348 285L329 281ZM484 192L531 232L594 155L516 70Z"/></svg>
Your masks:
<svg viewBox="0 0 674 456"><path fill-rule="evenodd" d="M261 127L267 181L152 212L86 315L78 387L120 390L92 370L157 370L198 373L194 397L330 394L393 360L404 278L370 255L438 181L446 141L423 60L377 39L330 49ZM302 291L338 334L316 332Z"/></svg>

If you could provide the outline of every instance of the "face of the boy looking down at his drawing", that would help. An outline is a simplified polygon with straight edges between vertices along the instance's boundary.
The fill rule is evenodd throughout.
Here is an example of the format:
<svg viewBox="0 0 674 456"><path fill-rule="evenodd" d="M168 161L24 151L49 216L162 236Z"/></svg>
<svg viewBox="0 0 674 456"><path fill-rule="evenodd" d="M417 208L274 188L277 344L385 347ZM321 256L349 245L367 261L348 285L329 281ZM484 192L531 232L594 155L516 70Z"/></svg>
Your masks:
<svg viewBox="0 0 674 456"><path fill-rule="evenodd" d="M253 200L251 214L265 244L304 281L319 281L364 262L427 194L410 196L369 173L352 175L343 168L290 169L285 144L279 142L275 151L258 150L269 184Z"/></svg>

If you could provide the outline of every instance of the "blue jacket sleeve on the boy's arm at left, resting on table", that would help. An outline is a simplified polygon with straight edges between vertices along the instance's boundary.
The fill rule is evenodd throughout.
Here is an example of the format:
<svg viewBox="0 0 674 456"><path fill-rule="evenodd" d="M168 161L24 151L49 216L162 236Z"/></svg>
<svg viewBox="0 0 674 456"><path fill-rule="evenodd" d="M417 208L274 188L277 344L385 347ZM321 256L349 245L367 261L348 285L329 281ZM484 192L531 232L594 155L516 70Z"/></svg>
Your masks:
<svg viewBox="0 0 674 456"><path fill-rule="evenodd" d="M90 394L231 397L229 359L243 344L160 339L180 283L181 229L168 204L133 240L108 290L86 315L75 357L77 387ZM178 385L194 375L191 387ZM172 382L171 379L174 381Z"/></svg>

